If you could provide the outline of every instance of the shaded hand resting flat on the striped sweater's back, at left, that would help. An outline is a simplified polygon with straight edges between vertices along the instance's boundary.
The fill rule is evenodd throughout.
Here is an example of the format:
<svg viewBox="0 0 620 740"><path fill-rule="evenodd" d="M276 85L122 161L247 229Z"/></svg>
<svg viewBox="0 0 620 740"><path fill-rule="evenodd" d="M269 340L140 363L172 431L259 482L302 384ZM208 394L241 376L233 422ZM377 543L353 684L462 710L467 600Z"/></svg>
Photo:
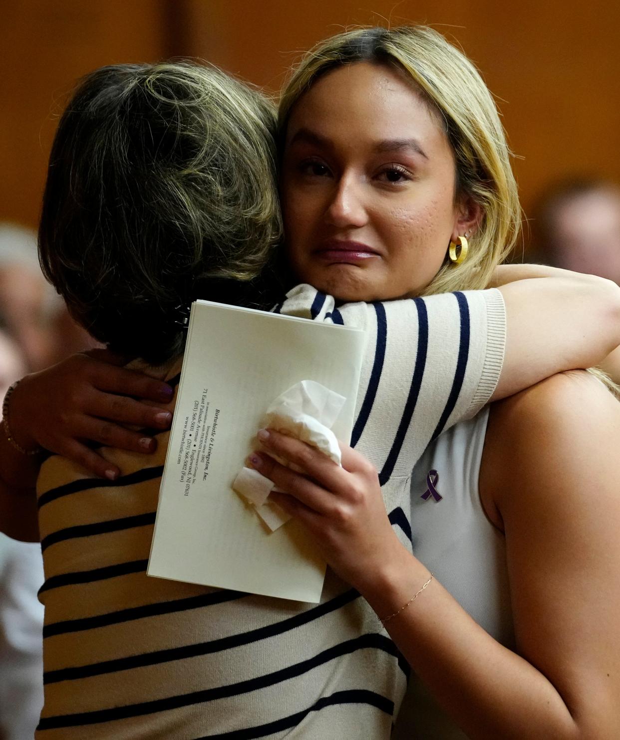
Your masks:
<svg viewBox="0 0 620 740"><path fill-rule="evenodd" d="M107 350L91 350L24 377L10 398L10 428L16 441L27 449L40 445L110 480L119 476L119 468L84 440L153 452L157 443L149 432L130 431L124 425L169 428L172 413L161 406L170 403L173 388L119 367L123 362Z"/></svg>

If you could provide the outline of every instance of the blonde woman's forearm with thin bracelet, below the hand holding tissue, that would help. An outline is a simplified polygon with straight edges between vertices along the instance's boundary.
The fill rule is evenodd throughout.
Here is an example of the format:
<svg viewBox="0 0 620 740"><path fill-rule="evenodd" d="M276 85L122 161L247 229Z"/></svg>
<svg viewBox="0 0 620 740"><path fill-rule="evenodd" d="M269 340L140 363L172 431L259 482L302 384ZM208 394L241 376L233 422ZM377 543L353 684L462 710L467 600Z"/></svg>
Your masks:
<svg viewBox="0 0 620 740"><path fill-rule="evenodd" d="M379 579L360 590L384 618L427 579L427 568L403 549ZM496 642L436 579L385 627L436 701L473 740L582 736L553 684Z"/></svg>

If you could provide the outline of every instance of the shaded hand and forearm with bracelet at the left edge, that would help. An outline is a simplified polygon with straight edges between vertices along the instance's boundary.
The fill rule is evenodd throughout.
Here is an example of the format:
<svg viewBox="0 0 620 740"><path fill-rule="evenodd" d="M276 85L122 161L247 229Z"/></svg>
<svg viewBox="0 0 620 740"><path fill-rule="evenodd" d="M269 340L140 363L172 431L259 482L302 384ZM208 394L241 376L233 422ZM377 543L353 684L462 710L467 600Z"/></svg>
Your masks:
<svg viewBox="0 0 620 740"><path fill-rule="evenodd" d="M167 428L172 420L170 411L156 404L169 402L173 389L153 377L110 364L119 362L115 355L93 351L26 376L8 404L10 433L16 443L22 450L42 447L62 454L108 478L117 477L119 468L104 460L85 440L153 451L156 441L152 432ZM130 431L111 420L150 428L152 432ZM3 423L0 531L14 539L39 539L35 487L40 463L41 454L24 454L9 442Z"/></svg>

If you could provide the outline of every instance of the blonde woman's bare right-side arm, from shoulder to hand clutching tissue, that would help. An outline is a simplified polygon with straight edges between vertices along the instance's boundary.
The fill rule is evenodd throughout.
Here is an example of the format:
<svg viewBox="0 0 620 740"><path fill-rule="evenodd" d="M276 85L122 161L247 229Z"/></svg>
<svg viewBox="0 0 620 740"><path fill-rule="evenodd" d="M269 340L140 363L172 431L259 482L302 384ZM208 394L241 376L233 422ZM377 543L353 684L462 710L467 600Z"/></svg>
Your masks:
<svg viewBox="0 0 620 740"><path fill-rule="evenodd" d="M492 411L481 493L507 546L517 652L486 633L393 534L376 474L272 432L272 494L366 597L413 670L473 739L620 735L620 404L558 376ZM579 451L579 454L576 454ZM282 468L269 452L300 465ZM265 454L267 453L267 454Z"/></svg>

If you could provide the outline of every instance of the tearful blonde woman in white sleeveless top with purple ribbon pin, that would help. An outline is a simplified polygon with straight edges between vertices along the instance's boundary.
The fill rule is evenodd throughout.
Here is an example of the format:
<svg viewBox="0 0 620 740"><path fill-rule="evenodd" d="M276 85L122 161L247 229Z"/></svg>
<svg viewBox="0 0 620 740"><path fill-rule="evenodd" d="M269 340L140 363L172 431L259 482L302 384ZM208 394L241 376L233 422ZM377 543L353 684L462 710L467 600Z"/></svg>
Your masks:
<svg viewBox="0 0 620 740"><path fill-rule="evenodd" d="M373 246L386 223L412 229L418 292L487 283L516 224L516 189L493 101L441 36L360 30L319 44L284 92L281 125L289 249L314 285L339 281L353 298L364 280L381 280L373 258L364 274L321 260L313 244L327 232ZM409 212L369 185L386 139ZM428 248L441 147L453 158L455 202L476 213L456 269ZM414 472L413 555L384 514L371 455L343 446L342 470L259 433L266 454L253 463L288 492L276 500L366 597L413 669L397 736L619 736L619 433L620 405L587 374L550 378L457 425Z"/></svg>

